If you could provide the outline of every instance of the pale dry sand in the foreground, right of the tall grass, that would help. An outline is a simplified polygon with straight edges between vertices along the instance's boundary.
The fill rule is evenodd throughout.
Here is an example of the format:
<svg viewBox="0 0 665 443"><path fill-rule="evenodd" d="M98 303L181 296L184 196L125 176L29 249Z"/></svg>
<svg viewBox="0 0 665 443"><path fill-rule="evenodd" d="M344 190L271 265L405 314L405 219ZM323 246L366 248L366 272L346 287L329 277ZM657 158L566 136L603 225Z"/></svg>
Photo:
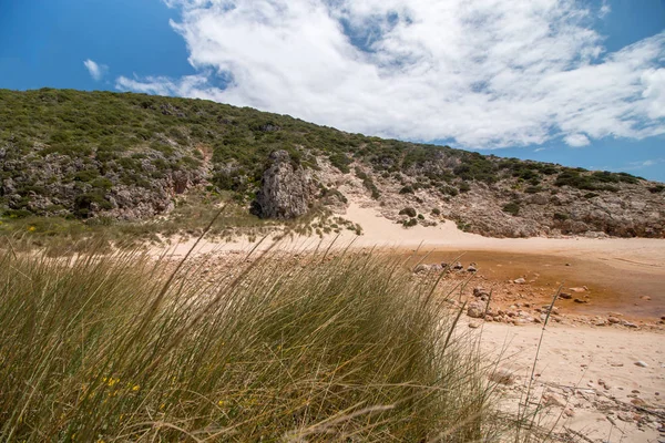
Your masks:
<svg viewBox="0 0 665 443"><path fill-rule="evenodd" d="M483 326L483 350L502 353L501 367L518 377L514 385L504 388L508 409L524 400L540 337L536 327ZM643 331L548 326L535 365L534 401L545 403L542 399L553 394L561 405L550 408L541 418L542 426L550 429L559 420L557 430L570 427L594 442L657 442L663 419L636 410L635 404L645 410L665 406L664 338ZM635 364L640 361L646 368ZM562 413L565 409L572 416Z"/></svg>

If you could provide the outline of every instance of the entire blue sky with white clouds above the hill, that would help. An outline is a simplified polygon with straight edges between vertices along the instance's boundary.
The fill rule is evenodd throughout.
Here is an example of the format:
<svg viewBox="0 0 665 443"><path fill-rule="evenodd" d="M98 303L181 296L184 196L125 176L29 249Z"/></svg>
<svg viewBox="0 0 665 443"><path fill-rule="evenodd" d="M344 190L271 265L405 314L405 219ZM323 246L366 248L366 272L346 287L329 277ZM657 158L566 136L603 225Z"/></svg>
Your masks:
<svg viewBox="0 0 665 443"><path fill-rule="evenodd" d="M665 1L516 3L0 0L0 87L198 96L665 182Z"/></svg>

